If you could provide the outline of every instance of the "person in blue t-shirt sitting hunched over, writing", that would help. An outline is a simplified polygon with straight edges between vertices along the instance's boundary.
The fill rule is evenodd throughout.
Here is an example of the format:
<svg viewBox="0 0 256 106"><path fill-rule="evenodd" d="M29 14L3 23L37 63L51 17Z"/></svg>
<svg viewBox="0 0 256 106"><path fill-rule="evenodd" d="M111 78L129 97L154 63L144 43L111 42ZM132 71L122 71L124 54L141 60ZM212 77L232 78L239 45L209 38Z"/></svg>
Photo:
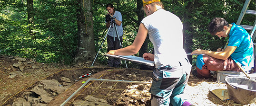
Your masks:
<svg viewBox="0 0 256 106"><path fill-rule="evenodd" d="M210 71L250 71L254 67L253 41L248 32L235 23L228 24L224 18L214 18L208 27L211 35L229 37L226 48L217 52L197 49L197 69L192 71L199 78L211 78Z"/></svg>

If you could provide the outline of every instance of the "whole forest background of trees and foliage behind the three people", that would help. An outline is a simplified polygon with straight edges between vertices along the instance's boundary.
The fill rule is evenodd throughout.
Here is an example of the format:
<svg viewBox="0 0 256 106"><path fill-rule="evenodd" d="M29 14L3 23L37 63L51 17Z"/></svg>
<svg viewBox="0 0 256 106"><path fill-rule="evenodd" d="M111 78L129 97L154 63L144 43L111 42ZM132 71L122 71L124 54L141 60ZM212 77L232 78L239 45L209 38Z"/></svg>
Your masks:
<svg viewBox="0 0 256 106"><path fill-rule="evenodd" d="M183 22L184 49L192 52L199 48L216 51L224 46L227 38L210 35L208 24L214 17L236 23L245 0L162 2L166 10ZM91 64L101 49L97 62L107 64L104 56L107 3L114 4L122 14L123 47L132 44L140 21L145 18L142 0L0 0L0 54L45 63ZM251 0L248 9L255 10L255 6L256 1ZM255 19L253 15L245 15L241 24L252 26ZM147 38L136 56L142 56L151 48ZM175 51L169 49L170 53ZM128 64L128 67L137 66Z"/></svg>

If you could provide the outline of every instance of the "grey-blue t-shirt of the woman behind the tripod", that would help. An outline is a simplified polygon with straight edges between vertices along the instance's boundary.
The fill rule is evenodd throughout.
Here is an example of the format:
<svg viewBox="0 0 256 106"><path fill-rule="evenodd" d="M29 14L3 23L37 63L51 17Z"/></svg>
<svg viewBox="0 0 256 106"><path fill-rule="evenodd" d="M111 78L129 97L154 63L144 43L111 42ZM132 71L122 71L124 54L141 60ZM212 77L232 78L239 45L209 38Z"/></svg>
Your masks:
<svg viewBox="0 0 256 106"><path fill-rule="evenodd" d="M123 22L122 15L121 15L121 13L120 13L119 11L115 11L115 13L114 13L113 16L116 17L116 19L117 19L118 21ZM106 22L106 21L105 21L105 22ZM117 29L118 29L118 35L119 35L119 36L122 36L122 35L123 35L123 23L121 23L120 26L117 25ZM113 28L113 26L111 26L111 28L110 28L109 31L108 31L108 35L110 35L110 36L113 37L113 36L114 36L113 34L114 34L114 28ZM115 34L115 37L117 37L116 34Z"/></svg>

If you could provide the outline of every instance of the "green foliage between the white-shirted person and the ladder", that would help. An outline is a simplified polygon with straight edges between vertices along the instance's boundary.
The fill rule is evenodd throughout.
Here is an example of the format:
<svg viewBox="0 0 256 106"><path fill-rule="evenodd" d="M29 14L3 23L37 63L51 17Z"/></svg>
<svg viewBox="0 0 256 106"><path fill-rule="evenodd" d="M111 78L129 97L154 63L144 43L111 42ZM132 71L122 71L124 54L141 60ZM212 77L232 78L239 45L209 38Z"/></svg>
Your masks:
<svg viewBox="0 0 256 106"><path fill-rule="evenodd" d="M214 17L225 18L230 24L236 23L245 0L178 0L178 2L168 0L163 2L167 4L165 5L167 10L176 14L183 22L191 23L189 27L192 27L193 30L185 32L193 35L192 50L216 51L217 48L226 44L228 38L210 35L207 31L208 24ZM248 9L255 10L255 1L251 0ZM255 20L255 15L245 15L241 24L252 26L254 22L252 20ZM194 56L193 60L195 58Z"/></svg>

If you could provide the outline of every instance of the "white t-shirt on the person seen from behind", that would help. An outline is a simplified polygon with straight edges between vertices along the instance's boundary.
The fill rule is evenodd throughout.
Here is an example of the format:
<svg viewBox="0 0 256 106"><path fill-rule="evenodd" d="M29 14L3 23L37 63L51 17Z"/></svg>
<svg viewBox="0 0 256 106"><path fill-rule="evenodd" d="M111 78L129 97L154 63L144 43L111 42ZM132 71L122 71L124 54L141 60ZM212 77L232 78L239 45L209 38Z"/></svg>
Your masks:
<svg viewBox="0 0 256 106"><path fill-rule="evenodd" d="M141 23L148 29L149 39L154 45L156 68L168 64L175 67L187 58L183 49L183 25L176 15L158 9Z"/></svg>

